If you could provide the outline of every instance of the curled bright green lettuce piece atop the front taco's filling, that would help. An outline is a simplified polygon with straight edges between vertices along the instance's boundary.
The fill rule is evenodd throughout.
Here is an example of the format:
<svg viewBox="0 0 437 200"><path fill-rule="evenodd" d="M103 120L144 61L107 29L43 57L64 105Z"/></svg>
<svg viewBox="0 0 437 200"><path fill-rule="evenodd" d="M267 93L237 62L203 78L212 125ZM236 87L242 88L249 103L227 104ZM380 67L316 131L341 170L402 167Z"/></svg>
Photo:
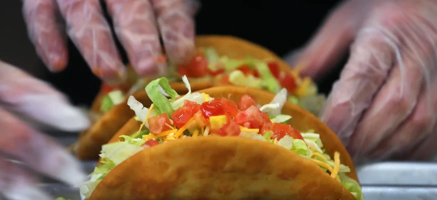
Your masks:
<svg viewBox="0 0 437 200"><path fill-rule="evenodd" d="M157 113L167 113L168 116L171 117L173 109L171 107L170 101L159 91L159 86L162 87L165 93L167 93L173 101L178 94L174 89L171 88L166 77L152 80L146 86L146 93L149 96L150 100L152 100Z"/></svg>

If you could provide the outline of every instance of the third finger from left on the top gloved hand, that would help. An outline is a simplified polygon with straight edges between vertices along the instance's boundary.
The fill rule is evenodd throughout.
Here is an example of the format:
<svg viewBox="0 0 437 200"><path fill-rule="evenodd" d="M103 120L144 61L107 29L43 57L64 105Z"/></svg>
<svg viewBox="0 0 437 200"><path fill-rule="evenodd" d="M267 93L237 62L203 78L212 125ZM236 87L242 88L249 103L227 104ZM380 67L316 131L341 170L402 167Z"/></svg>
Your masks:
<svg viewBox="0 0 437 200"><path fill-rule="evenodd" d="M114 29L140 76L165 73L154 11L148 0L106 0Z"/></svg>

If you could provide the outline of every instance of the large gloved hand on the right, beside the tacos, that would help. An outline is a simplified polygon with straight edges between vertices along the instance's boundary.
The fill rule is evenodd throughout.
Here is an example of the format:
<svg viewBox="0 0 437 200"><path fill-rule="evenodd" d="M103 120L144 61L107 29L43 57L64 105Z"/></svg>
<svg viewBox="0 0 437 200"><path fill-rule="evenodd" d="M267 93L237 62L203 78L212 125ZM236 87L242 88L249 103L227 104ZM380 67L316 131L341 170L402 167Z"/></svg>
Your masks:
<svg viewBox="0 0 437 200"><path fill-rule="evenodd" d="M435 155L437 0L348 0L295 64L306 63L302 73L316 78L349 47L321 120L356 160Z"/></svg>

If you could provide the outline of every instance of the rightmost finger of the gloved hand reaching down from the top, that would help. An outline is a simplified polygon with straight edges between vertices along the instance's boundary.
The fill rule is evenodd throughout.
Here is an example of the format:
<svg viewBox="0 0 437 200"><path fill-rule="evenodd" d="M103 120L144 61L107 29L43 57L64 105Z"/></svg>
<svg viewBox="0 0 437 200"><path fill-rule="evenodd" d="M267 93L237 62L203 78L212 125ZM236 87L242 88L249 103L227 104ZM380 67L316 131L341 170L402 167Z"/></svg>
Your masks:
<svg viewBox="0 0 437 200"><path fill-rule="evenodd" d="M195 50L194 19L189 0L152 0L165 51L173 62L188 59Z"/></svg>

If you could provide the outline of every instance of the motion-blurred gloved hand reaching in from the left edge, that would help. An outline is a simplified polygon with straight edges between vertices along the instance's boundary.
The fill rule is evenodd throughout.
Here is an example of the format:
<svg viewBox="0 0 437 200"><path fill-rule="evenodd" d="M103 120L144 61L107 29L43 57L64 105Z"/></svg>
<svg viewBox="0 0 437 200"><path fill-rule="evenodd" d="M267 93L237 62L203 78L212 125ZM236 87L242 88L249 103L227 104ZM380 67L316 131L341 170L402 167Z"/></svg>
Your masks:
<svg viewBox="0 0 437 200"><path fill-rule="evenodd" d="M0 61L0 194L9 199L51 199L34 185L37 178L32 172L10 159L66 183L86 180L80 163L64 147L9 111L67 131L89 125L63 94Z"/></svg>

